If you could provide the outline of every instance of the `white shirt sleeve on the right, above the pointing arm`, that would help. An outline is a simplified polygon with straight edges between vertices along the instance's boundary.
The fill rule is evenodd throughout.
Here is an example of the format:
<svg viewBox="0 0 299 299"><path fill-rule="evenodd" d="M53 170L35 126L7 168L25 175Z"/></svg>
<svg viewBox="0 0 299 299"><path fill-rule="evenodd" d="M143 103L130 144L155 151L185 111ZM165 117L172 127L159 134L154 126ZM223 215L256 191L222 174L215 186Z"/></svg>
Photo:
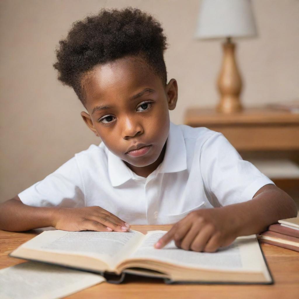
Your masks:
<svg viewBox="0 0 299 299"><path fill-rule="evenodd" d="M252 163L243 160L219 132L202 145L200 170L206 190L220 206L248 201L264 185L274 184Z"/></svg>

